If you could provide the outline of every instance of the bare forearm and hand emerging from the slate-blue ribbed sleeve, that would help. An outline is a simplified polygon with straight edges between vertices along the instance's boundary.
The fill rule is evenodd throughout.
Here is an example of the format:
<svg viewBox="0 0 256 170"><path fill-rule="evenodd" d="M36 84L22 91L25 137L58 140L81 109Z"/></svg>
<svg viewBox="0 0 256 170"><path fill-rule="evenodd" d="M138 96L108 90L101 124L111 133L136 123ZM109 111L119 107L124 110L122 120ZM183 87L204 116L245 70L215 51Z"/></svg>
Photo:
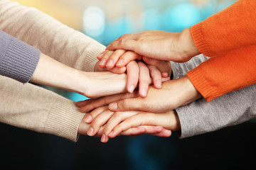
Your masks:
<svg viewBox="0 0 256 170"><path fill-rule="evenodd" d="M125 92L127 75L111 72L82 72L41 53L31 81L95 98Z"/></svg>

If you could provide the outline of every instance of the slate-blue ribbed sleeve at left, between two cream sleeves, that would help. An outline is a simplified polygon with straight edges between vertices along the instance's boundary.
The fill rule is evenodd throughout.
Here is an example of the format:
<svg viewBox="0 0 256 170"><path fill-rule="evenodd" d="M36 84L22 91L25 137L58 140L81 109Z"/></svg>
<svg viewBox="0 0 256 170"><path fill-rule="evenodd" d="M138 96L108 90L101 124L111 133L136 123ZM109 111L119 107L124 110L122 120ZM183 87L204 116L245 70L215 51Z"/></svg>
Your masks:
<svg viewBox="0 0 256 170"><path fill-rule="evenodd" d="M36 69L40 50L0 30L0 74L28 82Z"/></svg>

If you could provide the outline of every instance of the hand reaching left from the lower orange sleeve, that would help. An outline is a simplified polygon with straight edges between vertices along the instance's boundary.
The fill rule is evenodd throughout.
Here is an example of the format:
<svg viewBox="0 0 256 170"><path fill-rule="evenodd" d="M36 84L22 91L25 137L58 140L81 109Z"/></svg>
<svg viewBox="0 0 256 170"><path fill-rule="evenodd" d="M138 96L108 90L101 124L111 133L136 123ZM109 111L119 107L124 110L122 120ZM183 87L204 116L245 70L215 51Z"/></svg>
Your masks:
<svg viewBox="0 0 256 170"><path fill-rule="evenodd" d="M77 102L80 111L89 112L100 106L109 105L112 111L149 111L164 113L184 106L201 94L195 89L188 77L165 81L161 89L149 86L148 95L142 98L137 92L106 96L98 99Z"/></svg>

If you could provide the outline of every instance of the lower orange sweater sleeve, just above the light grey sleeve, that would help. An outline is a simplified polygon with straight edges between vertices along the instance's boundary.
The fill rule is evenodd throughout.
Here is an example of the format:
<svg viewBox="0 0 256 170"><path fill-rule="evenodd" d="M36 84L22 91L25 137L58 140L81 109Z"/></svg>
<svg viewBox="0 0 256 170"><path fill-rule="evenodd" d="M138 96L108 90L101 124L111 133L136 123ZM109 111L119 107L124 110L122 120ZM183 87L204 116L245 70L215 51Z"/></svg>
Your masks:
<svg viewBox="0 0 256 170"><path fill-rule="evenodd" d="M206 101L256 83L256 45L211 57L187 73Z"/></svg>

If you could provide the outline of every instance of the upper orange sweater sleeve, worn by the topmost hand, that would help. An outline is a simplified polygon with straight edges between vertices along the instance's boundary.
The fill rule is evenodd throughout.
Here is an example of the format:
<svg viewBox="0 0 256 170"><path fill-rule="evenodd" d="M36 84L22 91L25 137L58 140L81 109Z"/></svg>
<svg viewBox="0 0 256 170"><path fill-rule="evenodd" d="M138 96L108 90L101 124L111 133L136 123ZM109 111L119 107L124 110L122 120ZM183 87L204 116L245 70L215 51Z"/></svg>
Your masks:
<svg viewBox="0 0 256 170"><path fill-rule="evenodd" d="M208 57L256 43L256 1L240 0L191 28L198 50Z"/></svg>

